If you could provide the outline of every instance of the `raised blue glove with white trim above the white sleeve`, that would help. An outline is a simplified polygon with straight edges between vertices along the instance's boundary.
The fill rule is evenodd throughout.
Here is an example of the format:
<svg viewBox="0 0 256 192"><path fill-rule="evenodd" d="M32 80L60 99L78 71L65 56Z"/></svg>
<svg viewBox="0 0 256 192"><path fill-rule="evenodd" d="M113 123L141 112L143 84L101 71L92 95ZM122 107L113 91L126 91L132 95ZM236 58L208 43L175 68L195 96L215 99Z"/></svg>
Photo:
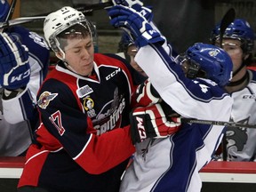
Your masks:
<svg viewBox="0 0 256 192"><path fill-rule="evenodd" d="M128 30L137 46L142 47L154 43L164 44L164 37L151 27L140 12L123 5L112 6L107 10L111 25Z"/></svg>

